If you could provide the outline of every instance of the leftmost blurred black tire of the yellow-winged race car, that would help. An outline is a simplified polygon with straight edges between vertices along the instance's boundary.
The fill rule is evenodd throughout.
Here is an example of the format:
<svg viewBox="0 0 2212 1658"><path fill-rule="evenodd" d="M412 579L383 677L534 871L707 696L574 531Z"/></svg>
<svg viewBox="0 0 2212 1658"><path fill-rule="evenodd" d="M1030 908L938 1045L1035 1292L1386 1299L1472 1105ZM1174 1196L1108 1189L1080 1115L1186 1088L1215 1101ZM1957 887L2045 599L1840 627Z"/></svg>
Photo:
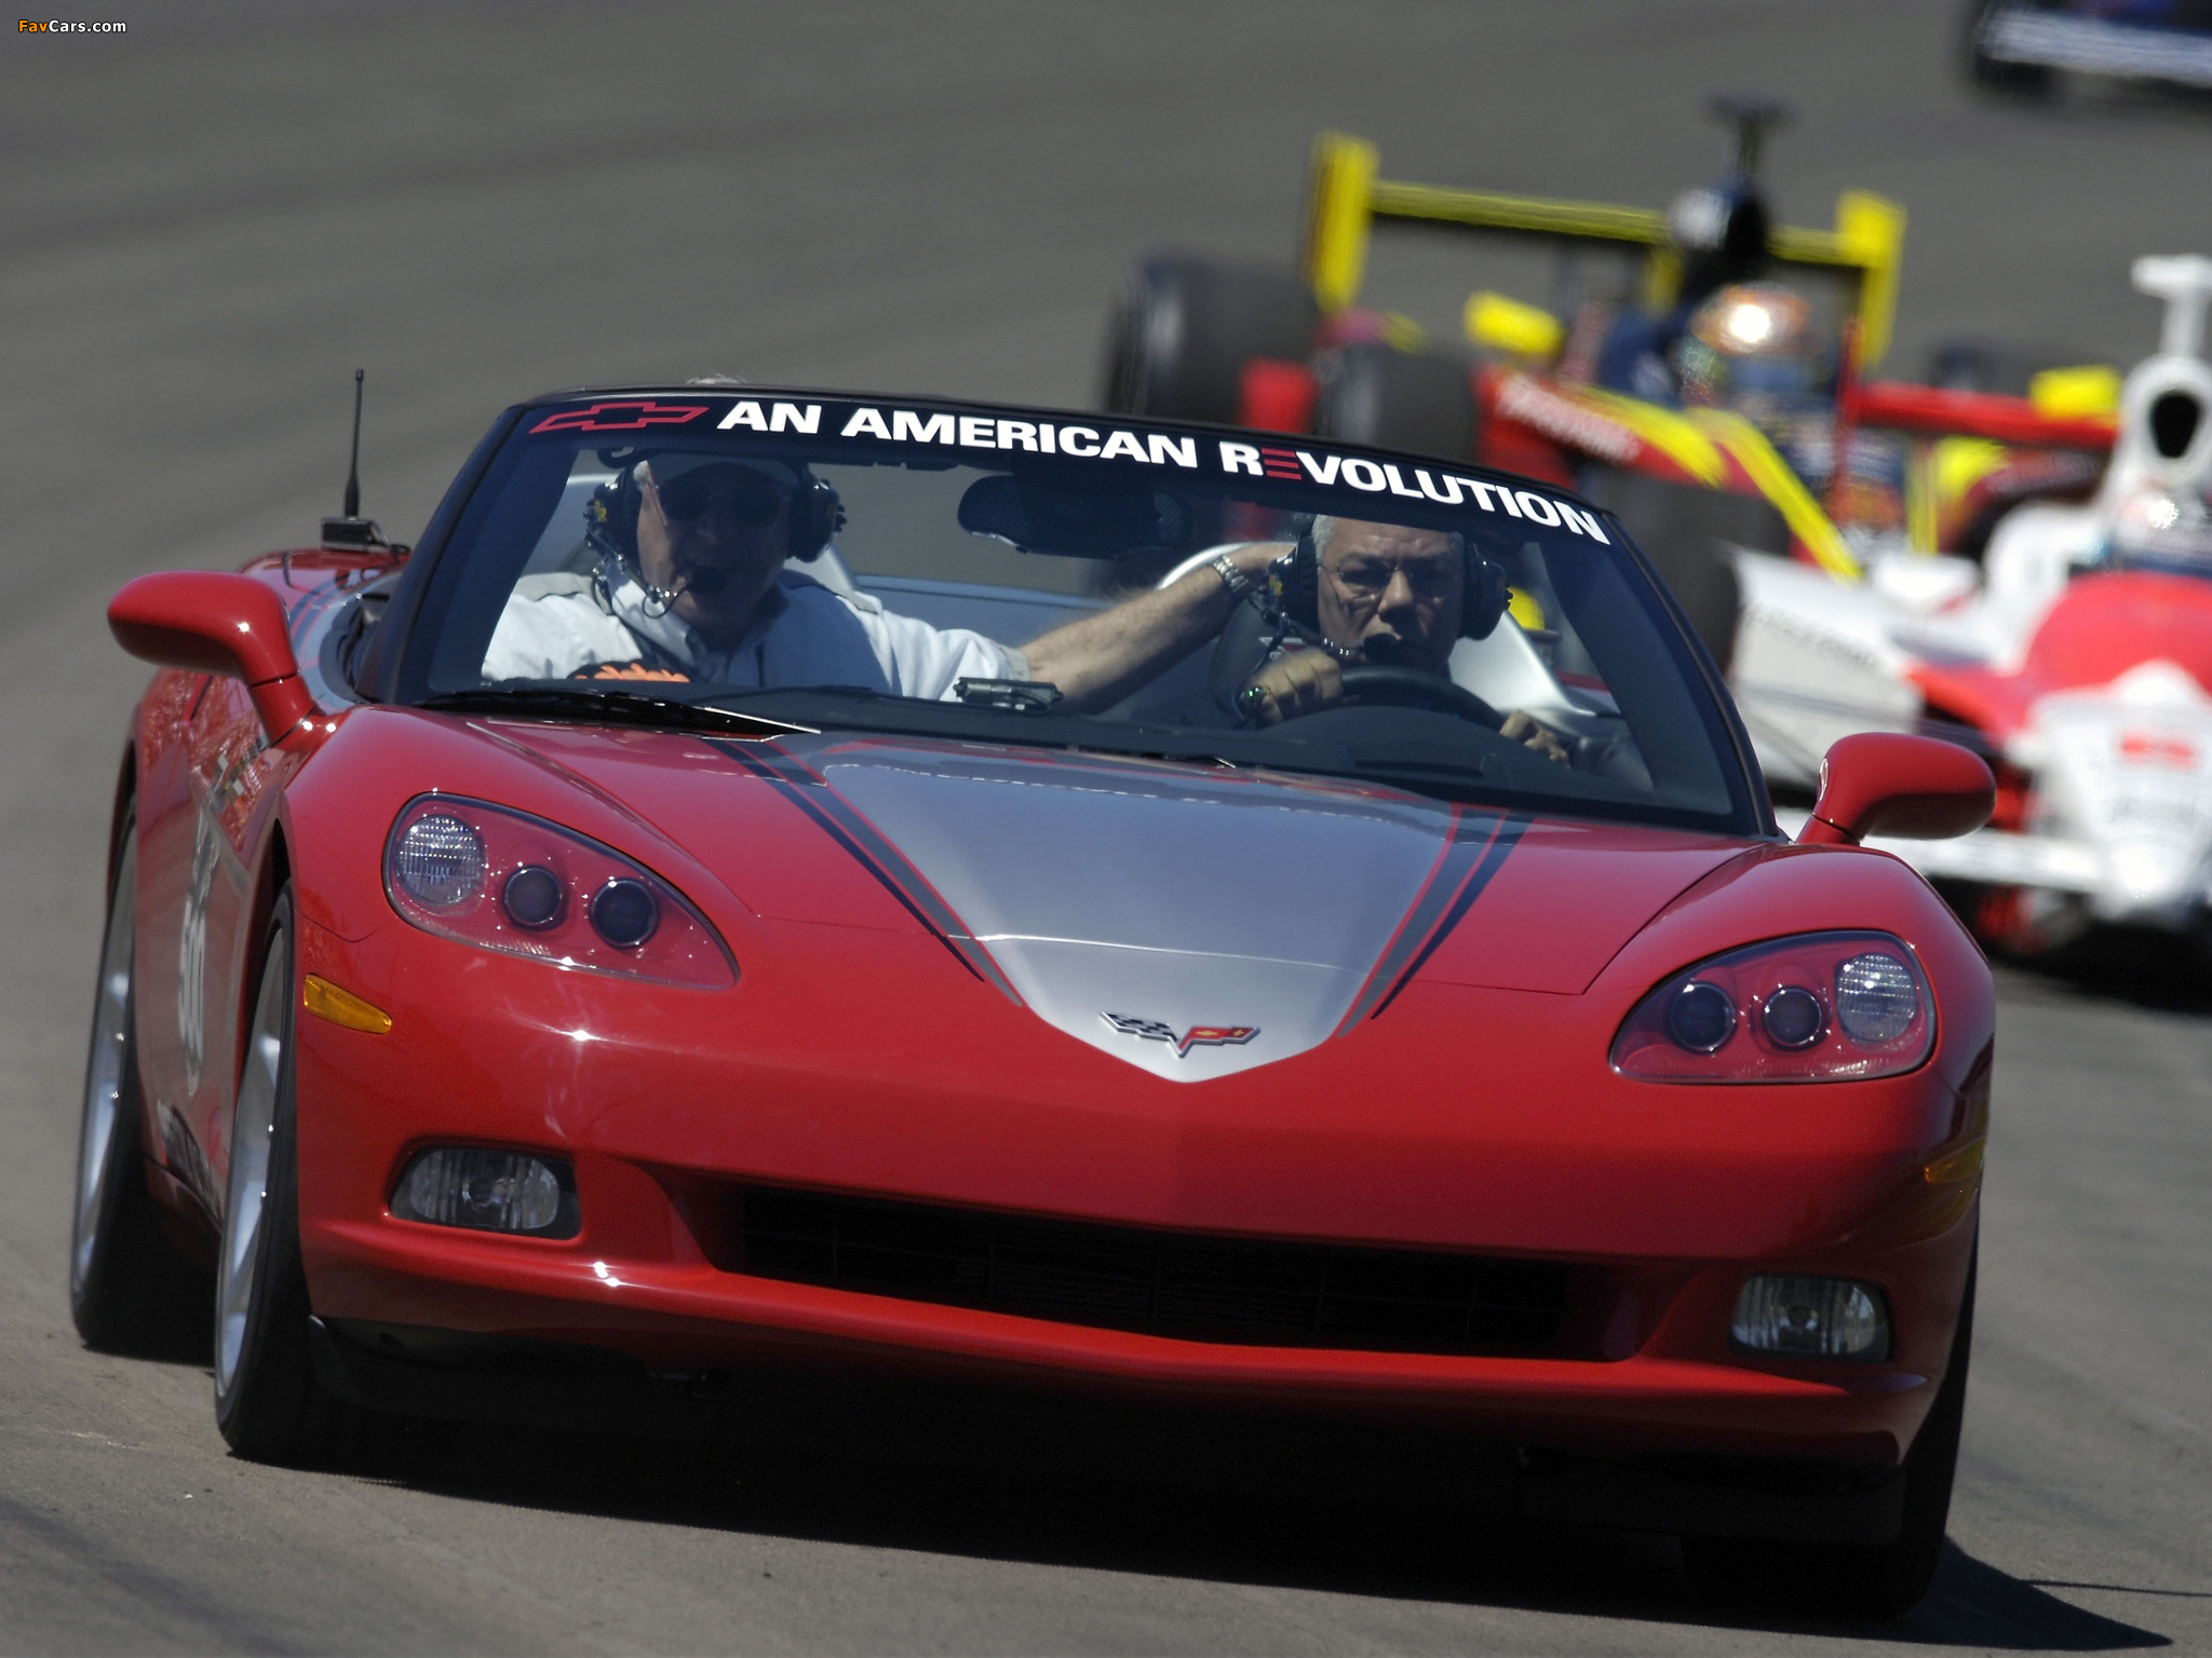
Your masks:
<svg viewBox="0 0 2212 1658"><path fill-rule="evenodd" d="M1108 413L1234 424L1252 358L1305 363L1321 312L1296 272L1148 254L1106 325Z"/></svg>

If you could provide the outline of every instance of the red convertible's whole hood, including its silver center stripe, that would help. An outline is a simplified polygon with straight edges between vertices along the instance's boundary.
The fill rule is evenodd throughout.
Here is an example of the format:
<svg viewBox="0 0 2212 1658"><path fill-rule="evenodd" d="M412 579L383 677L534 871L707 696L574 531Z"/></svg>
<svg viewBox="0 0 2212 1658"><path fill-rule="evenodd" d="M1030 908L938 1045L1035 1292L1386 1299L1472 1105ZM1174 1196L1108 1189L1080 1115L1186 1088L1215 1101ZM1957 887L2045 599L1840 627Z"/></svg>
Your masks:
<svg viewBox="0 0 2212 1658"><path fill-rule="evenodd" d="M500 736L626 802L754 913L920 924L991 990L1170 1081L1290 1059L1413 977L1577 995L1754 844L1108 754Z"/></svg>

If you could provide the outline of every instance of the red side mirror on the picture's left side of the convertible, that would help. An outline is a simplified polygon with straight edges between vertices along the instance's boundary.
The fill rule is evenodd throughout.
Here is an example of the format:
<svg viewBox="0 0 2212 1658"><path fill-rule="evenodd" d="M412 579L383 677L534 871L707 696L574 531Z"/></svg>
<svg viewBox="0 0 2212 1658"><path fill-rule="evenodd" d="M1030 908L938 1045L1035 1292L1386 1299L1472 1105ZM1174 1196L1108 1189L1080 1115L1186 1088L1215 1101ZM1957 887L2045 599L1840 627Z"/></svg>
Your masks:
<svg viewBox="0 0 2212 1658"><path fill-rule="evenodd" d="M250 575L142 575L108 601L108 632L133 657L161 668L243 679L272 743L314 712L283 601Z"/></svg>

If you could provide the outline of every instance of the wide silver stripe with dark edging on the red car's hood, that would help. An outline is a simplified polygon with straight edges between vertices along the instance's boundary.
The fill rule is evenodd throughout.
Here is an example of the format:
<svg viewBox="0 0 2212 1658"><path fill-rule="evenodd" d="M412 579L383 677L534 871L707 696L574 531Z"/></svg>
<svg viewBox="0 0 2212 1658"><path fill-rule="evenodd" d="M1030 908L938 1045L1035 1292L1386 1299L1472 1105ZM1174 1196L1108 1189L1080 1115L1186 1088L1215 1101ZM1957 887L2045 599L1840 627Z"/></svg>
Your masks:
<svg viewBox="0 0 2212 1658"><path fill-rule="evenodd" d="M1290 1059L1378 1017L1524 827L1338 778L914 738L712 747L978 979L1170 1081ZM1254 1035L1179 1050L1130 1021Z"/></svg>

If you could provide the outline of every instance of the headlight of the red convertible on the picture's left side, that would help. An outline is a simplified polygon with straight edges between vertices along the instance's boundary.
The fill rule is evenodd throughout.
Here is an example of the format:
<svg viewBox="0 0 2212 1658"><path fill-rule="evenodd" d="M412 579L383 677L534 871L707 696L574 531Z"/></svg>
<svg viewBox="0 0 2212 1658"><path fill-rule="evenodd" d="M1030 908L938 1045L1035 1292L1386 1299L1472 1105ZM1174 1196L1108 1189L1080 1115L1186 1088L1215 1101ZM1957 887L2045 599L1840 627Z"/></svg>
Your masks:
<svg viewBox="0 0 2212 1658"><path fill-rule="evenodd" d="M392 909L425 933L699 990L737 984L708 920L613 847L513 807L427 794L385 842Z"/></svg>

